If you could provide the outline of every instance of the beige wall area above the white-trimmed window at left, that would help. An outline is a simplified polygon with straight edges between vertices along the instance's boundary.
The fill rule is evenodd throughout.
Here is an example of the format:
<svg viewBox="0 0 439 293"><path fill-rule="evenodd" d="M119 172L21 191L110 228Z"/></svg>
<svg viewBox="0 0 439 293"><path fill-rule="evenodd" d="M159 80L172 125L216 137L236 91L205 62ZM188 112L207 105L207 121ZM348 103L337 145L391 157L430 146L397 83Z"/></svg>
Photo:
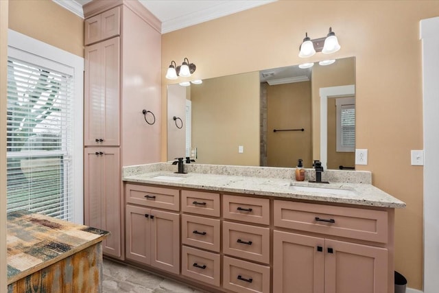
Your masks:
<svg viewBox="0 0 439 293"><path fill-rule="evenodd" d="M84 57L84 19L54 1L9 1L9 28Z"/></svg>

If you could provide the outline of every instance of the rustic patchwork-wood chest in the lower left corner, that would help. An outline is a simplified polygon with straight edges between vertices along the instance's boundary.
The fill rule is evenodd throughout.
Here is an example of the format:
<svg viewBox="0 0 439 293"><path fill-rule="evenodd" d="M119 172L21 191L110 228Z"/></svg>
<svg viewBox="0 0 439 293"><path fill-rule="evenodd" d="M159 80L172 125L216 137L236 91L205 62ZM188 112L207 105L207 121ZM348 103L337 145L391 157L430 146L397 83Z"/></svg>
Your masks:
<svg viewBox="0 0 439 293"><path fill-rule="evenodd" d="M108 234L47 215L8 213L8 292L101 292Z"/></svg>

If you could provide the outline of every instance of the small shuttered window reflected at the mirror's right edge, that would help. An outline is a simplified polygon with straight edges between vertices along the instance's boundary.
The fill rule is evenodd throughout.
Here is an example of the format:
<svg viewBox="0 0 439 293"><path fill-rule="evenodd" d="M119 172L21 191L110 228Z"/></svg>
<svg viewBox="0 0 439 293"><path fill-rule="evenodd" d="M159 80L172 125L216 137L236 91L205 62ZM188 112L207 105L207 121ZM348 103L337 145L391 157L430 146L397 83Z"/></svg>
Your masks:
<svg viewBox="0 0 439 293"><path fill-rule="evenodd" d="M355 99L335 100L337 106L337 152L355 152Z"/></svg>

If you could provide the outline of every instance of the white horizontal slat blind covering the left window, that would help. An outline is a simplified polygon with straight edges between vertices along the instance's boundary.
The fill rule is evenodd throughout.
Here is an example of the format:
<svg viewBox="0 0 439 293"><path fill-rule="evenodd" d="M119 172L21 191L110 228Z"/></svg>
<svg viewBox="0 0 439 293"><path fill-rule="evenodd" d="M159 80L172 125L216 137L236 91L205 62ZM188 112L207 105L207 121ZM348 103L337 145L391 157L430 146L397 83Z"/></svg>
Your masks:
<svg viewBox="0 0 439 293"><path fill-rule="evenodd" d="M73 75L34 60L8 57L8 212L72 220Z"/></svg>

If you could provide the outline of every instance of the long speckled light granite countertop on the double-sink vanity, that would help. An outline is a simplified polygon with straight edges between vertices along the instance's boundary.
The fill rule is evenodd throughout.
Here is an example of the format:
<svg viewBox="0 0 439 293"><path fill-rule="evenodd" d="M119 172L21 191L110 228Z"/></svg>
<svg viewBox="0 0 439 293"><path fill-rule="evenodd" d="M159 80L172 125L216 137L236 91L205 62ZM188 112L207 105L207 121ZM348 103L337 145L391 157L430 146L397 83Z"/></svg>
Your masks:
<svg viewBox="0 0 439 293"><path fill-rule="evenodd" d="M165 163L161 163L165 164ZM204 189L206 191L218 191L221 193L233 192L239 194L258 195L258 196L273 196L278 198L298 199L298 200L316 200L319 202L335 202L343 204L359 204L361 206L369 207L386 207L386 208L405 208L405 203L390 194L385 193L381 189L374 187L370 183L361 183L355 180L355 174L344 173L351 176L351 182L336 182L330 181L329 184L322 183L308 183L307 181L298 182L285 176L280 175L281 178L270 177L264 171L254 167L252 172L242 172L238 170L239 175L234 175L237 172L230 172L227 168L227 174L224 172L216 172L222 174L206 174L206 172L197 173L190 172L188 174L175 174L170 171L171 167L167 165L142 165L134 167L124 167L123 180L127 183L147 183L154 185L165 185L169 187L182 187L193 189ZM145 167L146 166L146 167ZM188 166L189 167L189 166ZM172 168L173 169L173 168ZM232 168L233 169L233 168ZM280 168L283 169L283 168ZM200 167L193 167L193 170L199 171ZM288 169L291 173L294 169ZM206 169L204 170L206 171ZM209 169L209 172L212 170ZM274 174L279 170L271 170ZM312 174L312 169L307 170ZM259 172L254 176L249 176ZM260 173L263 174L260 174ZM346 171L342 171L346 172ZM365 174L358 173L358 176ZM262 176L260 176L262 175ZM161 176L161 178L154 178ZM336 176L334 174L328 176ZM311 175L308 176L309 179ZM335 177L333 177L335 178ZM366 181L368 181L367 176ZM312 179L312 178L310 178ZM322 178L325 180L325 178ZM334 179L335 180L335 179ZM353 182L353 183L352 183ZM294 186L292 186L294 185ZM313 190L297 190L300 187L314 187ZM342 191L340 191L342 189Z"/></svg>

